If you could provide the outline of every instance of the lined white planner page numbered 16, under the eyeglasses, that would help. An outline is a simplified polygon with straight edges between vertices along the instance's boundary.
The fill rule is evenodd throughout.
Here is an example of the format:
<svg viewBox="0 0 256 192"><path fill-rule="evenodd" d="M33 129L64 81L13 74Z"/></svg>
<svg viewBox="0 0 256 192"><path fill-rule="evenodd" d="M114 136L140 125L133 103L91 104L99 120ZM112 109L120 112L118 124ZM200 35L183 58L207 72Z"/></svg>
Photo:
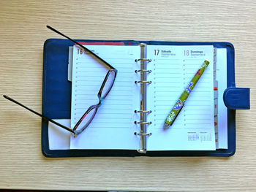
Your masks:
<svg viewBox="0 0 256 192"><path fill-rule="evenodd" d="M78 137L71 137L71 149L138 149L140 138L135 120L139 108L140 87L135 84L138 74L135 63L140 58L139 46L88 45L89 50L103 58L118 70L116 82L97 111L94 120ZM82 53L82 54L80 54ZM72 112L71 126L86 110L99 103L97 93L108 69L101 61L92 58L74 46L72 67Z"/></svg>

